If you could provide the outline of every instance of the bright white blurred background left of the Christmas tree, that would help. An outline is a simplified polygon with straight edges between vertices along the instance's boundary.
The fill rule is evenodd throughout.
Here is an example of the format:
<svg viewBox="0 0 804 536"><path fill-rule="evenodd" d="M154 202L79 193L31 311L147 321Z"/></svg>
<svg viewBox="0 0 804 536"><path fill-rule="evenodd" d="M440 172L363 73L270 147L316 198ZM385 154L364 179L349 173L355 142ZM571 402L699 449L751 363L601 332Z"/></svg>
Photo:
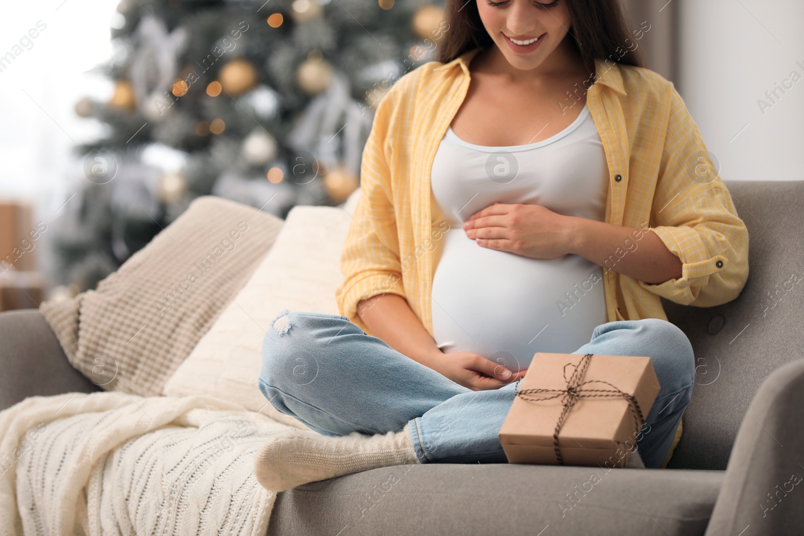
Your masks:
<svg viewBox="0 0 804 536"><path fill-rule="evenodd" d="M0 72L0 197L35 201L40 218L75 191L69 178L80 177L81 159L73 146L100 132L97 121L81 119L74 109L81 96L111 93L111 82L88 70L113 53L109 21L116 5L46 0L3 6L0 55L22 53ZM37 23L44 30L29 42L25 37Z"/></svg>

